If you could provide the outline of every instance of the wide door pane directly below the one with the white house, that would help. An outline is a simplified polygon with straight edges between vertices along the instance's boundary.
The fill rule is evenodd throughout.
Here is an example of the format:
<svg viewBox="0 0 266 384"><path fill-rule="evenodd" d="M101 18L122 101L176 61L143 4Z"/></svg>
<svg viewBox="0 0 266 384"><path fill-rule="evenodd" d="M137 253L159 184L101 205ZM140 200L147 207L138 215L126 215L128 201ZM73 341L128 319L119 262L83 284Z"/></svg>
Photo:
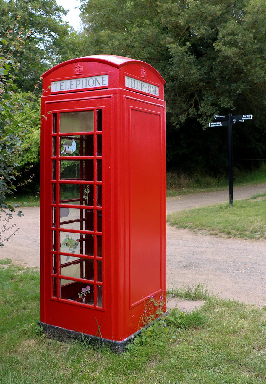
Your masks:
<svg viewBox="0 0 266 384"><path fill-rule="evenodd" d="M93 160L61 160L60 179L93 181Z"/></svg>

